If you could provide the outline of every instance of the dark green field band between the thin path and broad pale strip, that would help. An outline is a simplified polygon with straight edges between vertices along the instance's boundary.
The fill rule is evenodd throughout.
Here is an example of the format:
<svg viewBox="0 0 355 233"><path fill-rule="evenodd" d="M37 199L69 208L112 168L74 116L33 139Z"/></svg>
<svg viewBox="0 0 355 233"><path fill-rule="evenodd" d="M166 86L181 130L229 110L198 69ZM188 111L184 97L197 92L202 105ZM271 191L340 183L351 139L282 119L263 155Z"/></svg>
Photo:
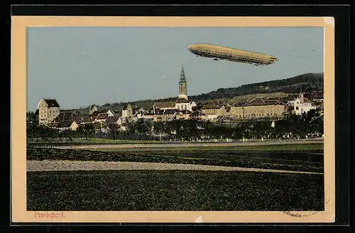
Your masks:
<svg viewBox="0 0 355 233"><path fill-rule="evenodd" d="M244 168L299 170L323 173L322 151L238 151L200 148L139 148L135 150L90 151L60 148L27 148L27 160L129 161L182 163ZM320 154L318 154L320 153Z"/></svg>

